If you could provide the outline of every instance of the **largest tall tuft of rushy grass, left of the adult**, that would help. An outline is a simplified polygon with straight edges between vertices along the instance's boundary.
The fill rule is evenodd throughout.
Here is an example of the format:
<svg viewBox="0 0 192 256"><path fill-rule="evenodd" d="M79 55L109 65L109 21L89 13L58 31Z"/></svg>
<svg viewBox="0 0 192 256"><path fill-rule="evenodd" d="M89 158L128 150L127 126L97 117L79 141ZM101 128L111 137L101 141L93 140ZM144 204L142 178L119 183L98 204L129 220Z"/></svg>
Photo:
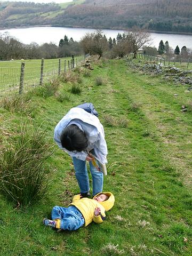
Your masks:
<svg viewBox="0 0 192 256"><path fill-rule="evenodd" d="M45 132L39 128L31 132L23 125L20 133L1 149L1 194L18 206L42 199L49 185L45 161L50 155Z"/></svg>

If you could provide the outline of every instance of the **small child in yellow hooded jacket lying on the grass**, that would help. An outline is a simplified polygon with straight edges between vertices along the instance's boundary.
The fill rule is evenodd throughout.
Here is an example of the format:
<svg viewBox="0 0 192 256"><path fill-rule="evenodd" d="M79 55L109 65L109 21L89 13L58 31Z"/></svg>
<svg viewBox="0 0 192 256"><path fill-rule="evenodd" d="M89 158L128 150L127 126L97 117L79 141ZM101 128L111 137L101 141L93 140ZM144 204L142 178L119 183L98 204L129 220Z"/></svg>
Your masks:
<svg viewBox="0 0 192 256"><path fill-rule="evenodd" d="M92 221L101 223L105 220L105 211L110 210L115 197L110 192L99 193L93 199L75 195L68 207L54 206L51 212L52 220L44 219L45 226L64 230L76 230L85 227Z"/></svg>

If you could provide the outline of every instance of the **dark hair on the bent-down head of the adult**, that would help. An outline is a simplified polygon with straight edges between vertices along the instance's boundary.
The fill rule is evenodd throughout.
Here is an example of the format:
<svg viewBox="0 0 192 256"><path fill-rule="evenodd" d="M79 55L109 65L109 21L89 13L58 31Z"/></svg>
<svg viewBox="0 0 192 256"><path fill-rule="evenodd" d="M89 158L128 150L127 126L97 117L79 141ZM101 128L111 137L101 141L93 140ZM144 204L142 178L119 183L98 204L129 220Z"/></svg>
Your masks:
<svg viewBox="0 0 192 256"><path fill-rule="evenodd" d="M87 147L85 133L75 124L67 126L60 135L61 145L69 151L82 151Z"/></svg>

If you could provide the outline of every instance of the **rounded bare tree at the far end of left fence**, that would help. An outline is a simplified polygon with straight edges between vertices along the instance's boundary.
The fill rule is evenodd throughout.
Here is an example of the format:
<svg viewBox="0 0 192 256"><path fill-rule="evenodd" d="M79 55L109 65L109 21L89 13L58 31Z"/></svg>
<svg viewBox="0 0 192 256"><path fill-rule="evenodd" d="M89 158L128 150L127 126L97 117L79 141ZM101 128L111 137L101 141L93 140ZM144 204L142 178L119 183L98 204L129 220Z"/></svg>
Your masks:
<svg viewBox="0 0 192 256"><path fill-rule="evenodd" d="M108 41L105 35L102 35L102 30L100 29L93 33L86 33L81 40L81 44L85 53L98 54L99 59L103 52L108 50Z"/></svg>

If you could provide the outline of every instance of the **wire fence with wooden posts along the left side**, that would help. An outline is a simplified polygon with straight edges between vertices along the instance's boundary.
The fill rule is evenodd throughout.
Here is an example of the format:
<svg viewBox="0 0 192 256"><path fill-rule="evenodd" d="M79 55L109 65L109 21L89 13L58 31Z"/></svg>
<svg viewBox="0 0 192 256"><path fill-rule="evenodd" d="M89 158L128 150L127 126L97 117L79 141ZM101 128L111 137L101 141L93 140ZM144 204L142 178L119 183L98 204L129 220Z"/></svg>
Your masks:
<svg viewBox="0 0 192 256"><path fill-rule="evenodd" d="M0 61L0 97L29 91L84 62L85 57L74 55L65 59Z"/></svg>

